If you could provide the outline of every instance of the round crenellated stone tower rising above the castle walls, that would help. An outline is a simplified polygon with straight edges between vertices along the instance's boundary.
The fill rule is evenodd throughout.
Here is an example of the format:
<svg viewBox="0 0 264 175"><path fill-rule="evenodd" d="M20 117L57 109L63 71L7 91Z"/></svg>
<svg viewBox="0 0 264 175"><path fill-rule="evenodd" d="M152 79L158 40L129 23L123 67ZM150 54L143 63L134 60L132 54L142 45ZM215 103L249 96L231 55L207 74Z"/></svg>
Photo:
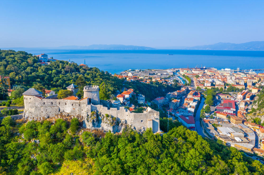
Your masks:
<svg viewBox="0 0 264 175"><path fill-rule="evenodd" d="M84 86L83 87L83 98L90 98L92 104L100 105L99 98L99 86Z"/></svg>

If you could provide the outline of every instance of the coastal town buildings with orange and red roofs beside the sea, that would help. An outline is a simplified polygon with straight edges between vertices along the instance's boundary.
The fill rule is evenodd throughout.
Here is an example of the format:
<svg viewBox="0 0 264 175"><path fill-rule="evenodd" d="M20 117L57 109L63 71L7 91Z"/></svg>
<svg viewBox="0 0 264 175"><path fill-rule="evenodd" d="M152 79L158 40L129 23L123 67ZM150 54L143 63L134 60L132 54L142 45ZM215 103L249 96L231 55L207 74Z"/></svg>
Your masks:
<svg viewBox="0 0 264 175"><path fill-rule="evenodd" d="M52 61L56 61L48 58L46 54L36 56L41 65L49 65ZM79 66L87 66L85 60L84 64ZM112 107L118 109L124 107L133 113L147 112L148 106L156 105L157 109L168 114L170 118L178 120L203 137L215 138L227 146L264 155L264 127L247 117L252 111L256 96L264 86L264 73L239 69L217 70L201 66L201 68L165 70L130 69L112 76L124 82L138 81L145 84L157 82L180 87L177 91L168 92L166 96L148 101L145 95L136 94L134 89L124 88L116 93L115 98L108 101ZM7 80L10 96L13 91L10 77L3 78ZM78 87L72 84L67 89L73 92L73 96L65 100L78 101L76 97ZM209 90L213 90L215 94L212 96L211 104L206 104ZM45 89L44 94L46 98L52 99L55 92Z"/></svg>

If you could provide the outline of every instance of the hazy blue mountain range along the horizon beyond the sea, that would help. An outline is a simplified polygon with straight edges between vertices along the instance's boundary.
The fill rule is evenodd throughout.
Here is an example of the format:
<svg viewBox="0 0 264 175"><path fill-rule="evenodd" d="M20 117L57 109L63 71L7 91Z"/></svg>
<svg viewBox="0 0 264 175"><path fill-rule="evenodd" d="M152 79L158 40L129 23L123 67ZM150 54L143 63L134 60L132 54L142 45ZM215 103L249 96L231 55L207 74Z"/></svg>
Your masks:
<svg viewBox="0 0 264 175"><path fill-rule="evenodd" d="M192 50L264 50L264 41L252 41L241 44L234 43L216 43L210 45L199 45L194 47L145 47L136 45L122 45L122 44L93 44L89 46L60 46L60 47L37 47L37 48L2 48L13 50L35 50L35 49L84 49L84 50L155 50L155 49L192 49Z"/></svg>

